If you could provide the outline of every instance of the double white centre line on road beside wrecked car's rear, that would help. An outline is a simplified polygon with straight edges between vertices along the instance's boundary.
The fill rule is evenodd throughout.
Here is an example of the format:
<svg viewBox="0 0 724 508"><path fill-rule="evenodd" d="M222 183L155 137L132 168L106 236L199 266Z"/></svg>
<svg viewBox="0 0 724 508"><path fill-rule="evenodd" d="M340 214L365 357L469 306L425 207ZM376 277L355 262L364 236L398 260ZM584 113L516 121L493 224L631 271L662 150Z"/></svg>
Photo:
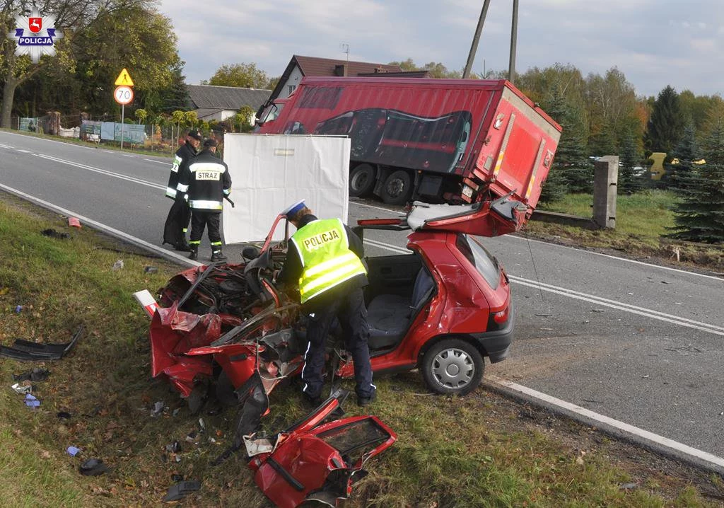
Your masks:
<svg viewBox="0 0 724 508"><path fill-rule="evenodd" d="M390 245L389 243L383 243L381 241L365 240L365 243L377 247L379 249L386 249L388 251L395 252L395 254L409 254L410 251L401 249L400 247ZM560 294L562 296L568 296L582 301L589 301L593 304L602 305L604 307L610 307L612 309L623 310L624 312L631 312L631 314L637 314L644 317L650 317L654 320L665 321L673 323L674 325L685 326L687 328L694 328L696 330L702 330L707 333L713 333L718 336L724 336L724 327L717 325L710 325L709 323L699 322L690 320L686 317L679 317L675 315L665 314L657 310L645 309L644 307L636 307L635 305L626 304L623 301L615 301L603 298L602 296L594 296L588 293L581 293L580 291L573 291L573 289L560 288L558 286L552 286L551 284L537 283L535 280L528 280L522 277L508 274L510 280L514 283L521 284L522 286L528 286L530 288L541 289L542 291L548 291L550 293Z"/></svg>

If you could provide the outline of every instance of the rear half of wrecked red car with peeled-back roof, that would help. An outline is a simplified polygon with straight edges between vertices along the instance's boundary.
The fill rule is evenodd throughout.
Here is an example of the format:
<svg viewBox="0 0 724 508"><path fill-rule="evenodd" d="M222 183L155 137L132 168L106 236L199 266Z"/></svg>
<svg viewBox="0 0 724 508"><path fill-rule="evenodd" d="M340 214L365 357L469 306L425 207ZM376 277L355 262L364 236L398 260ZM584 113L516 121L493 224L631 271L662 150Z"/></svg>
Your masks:
<svg viewBox="0 0 724 508"><path fill-rule="evenodd" d="M366 257L374 372L418 367L432 391L464 395L479 385L484 357L494 363L508 355L510 286L473 234L482 208L416 204L407 217L358 221L360 236L374 229L408 233L411 251ZM343 362L338 373L353 375L351 362Z"/></svg>

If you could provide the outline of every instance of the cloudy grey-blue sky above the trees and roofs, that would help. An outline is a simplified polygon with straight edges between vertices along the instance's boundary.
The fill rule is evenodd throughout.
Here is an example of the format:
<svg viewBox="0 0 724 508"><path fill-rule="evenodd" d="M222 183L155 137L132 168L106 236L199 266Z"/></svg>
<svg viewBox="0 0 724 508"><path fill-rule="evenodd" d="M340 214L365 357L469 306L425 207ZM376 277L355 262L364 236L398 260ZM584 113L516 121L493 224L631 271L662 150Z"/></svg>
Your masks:
<svg viewBox="0 0 724 508"><path fill-rule="evenodd" d="M483 0L161 0L187 83L222 64L281 75L292 54L462 70ZM473 72L507 70L512 0L492 0ZM724 0L520 0L516 68L618 67L639 95L724 93Z"/></svg>

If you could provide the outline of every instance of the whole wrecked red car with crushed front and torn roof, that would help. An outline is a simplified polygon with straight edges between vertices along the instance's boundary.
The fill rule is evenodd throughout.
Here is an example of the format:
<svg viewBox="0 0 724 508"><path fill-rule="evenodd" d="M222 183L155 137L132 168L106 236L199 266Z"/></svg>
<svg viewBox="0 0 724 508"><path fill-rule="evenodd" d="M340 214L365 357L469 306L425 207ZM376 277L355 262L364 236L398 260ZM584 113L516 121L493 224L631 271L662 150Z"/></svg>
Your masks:
<svg viewBox="0 0 724 508"><path fill-rule="evenodd" d="M478 236L520 222L519 205L509 196L415 204L406 217L358 221L361 236L369 229L408 233L411 251L366 258L374 372L418 368L432 391L463 395L479 386L484 357L505 359L513 336L510 286ZM185 270L160 291L150 330L152 374L167 378L192 409L211 386L221 401L237 404L251 393L252 378L269 394L301 371L306 342L298 300L271 283L285 258L287 241L271 243L282 220L290 238L279 216L261 251L244 249L248 262ZM351 378L352 359L337 339L328 342L334 375Z"/></svg>

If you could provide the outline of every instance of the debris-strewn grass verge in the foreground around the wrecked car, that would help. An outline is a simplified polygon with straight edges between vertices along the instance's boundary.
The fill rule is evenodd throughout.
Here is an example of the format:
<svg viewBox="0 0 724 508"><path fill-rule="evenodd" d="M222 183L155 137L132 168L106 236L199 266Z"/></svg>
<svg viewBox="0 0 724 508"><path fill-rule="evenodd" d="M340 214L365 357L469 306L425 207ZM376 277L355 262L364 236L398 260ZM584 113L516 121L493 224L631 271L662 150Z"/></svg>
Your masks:
<svg viewBox="0 0 724 508"><path fill-rule="evenodd" d="M40 233L45 228L72 238L47 238ZM122 246L98 233L67 228L59 217L4 195L0 236L1 343L16 337L64 342L78 325L87 330L72 354L46 362L51 375L35 383L42 401L37 410L25 407L9 386L12 373L38 364L0 362L6 385L0 391L3 506L151 506L172 485L172 474L202 481L185 504L268 506L241 457L209 465L229 444L235 413L202 414L207 430L198 433L198 416L188 414L166 383L150 378L148 318L131 295L164 286L177 268L119 253L114 249ZM117 259L125 267L114 271ZM146 273L147 265L159 272ZM19 313L17 305L23 306ZM462 399L433 396L416 372L376 384L379 399L370 411L399 439L369 462L371 474L345 506L715 506L694 487L712 485L706 475L662 467L662 459L484 389ZM348 381L345 386L352 388ZM167 410L151 417L160 400ZM347 405L350 414L359 412ZM58 420L61 410L72 418ZM280 386L264 426L278 430L304 412L298 386ZM198 434L188 442L192 431ZM174 440L182 443L177 455L165 449ZM65 453L70 445L83 450L79 457ZM88 457L103 459L111 472L81 476L77 467ZM629 482L638 487L620 488Z"/></svg>

